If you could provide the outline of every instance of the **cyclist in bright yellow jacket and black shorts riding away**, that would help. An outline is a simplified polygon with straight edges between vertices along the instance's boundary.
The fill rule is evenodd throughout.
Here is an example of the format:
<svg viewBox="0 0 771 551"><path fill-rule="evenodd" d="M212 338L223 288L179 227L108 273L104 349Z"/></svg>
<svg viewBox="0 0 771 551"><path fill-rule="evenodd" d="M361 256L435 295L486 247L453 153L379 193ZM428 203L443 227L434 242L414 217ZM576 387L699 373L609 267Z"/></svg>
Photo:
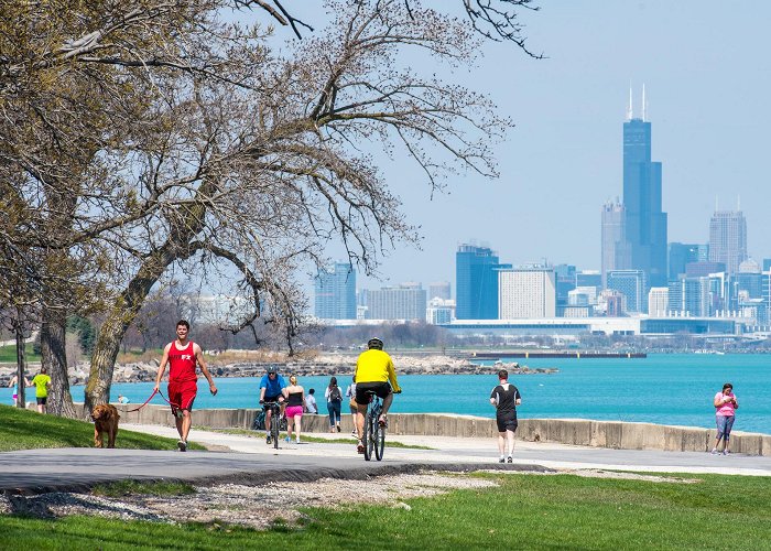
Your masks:
<svg viewBox="0 0 771 551"><path fill-rule="evenodd" d="M383 352L383 342L379 338L370 338L367 342L367 350L356 360L356 432L359 437L357 450L365 453L361 437L365 430L365 414L367 413L368 390L373 390L383 400L383 409L378 420L386 426L388 409L393 402L393 393L400 393L402 389L397 381L397 372L393 369L391 356ZM390 385L389 385L390 381Z"/></svg>

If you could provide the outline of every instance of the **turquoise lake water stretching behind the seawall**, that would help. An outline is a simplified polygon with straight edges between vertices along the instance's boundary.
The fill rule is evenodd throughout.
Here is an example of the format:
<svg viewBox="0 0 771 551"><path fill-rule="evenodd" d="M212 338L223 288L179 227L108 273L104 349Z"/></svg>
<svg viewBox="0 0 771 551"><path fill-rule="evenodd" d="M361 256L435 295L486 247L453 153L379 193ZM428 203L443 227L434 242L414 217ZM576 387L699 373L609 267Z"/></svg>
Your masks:
<svg viewBox="0 0 771 551"><path fill-rule="evenodd" d="M642 359L517 359L529 367L556 367L552 375L520 375L510 380L522 393L521 418L579 418L639 421L688 426L713 426L713 397L724 382L734 383L739 399L735 430L771 434L771 355L649 355ZM398 366L397 366L398 370ZM286 375L286 374L282 374ZM343 388L349 374L337 374ZM301 377L300 383L316 389L319 411L326 413L324 388L329 377ZM258 378L218 378L219 393L211 397L199 383L195 407L257 408ZM394 399L394 412L443 412L493 417L489 395L495 376L408 375L399 377L404 392ZM153 383L112 386L140 404ZM165 390L165 385L162 386ZM34 389L28 389L34 392ZM76 401L83 387L73 387ZM321 399L318 398L321 395ZM34 396L34 395L32 395ZM28 395L29 400L29 395ZM0 389L0 402L11 403L11 389ZM163 404L156 397L152 403ZM345 412L345 408L344 408Z"/></svg>

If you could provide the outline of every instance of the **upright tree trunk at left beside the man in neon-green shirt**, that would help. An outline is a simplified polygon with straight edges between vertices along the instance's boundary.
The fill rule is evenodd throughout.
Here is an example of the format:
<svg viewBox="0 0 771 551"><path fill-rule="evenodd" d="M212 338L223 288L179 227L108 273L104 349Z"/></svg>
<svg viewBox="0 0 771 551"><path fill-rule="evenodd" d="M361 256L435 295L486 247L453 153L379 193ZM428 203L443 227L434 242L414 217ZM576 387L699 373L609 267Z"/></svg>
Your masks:
<svg viewBox="0 0 771 551"><path fill-rule="evenodd" d="M42 365L51 377L47 410L54 415L75 418L65 352L66 329L67 316L64 310L47 307L43 310L40 344Z"/></svg>

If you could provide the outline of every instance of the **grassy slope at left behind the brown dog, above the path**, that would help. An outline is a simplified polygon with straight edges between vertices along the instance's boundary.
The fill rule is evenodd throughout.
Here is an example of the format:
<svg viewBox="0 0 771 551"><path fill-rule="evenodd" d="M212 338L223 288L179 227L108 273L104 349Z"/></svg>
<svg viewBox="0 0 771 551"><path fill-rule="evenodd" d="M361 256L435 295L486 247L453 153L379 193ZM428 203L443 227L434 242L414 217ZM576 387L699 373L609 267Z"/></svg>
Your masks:
<svg viewBox="0 0 771 551"><path fill-rule="evenodd" d="M36 411L0 406L0 452L40 447L93 447L94 424ZM118 429L116 447L175 450L176 440ZM191 450L205 450L194 442Z"/></svg>

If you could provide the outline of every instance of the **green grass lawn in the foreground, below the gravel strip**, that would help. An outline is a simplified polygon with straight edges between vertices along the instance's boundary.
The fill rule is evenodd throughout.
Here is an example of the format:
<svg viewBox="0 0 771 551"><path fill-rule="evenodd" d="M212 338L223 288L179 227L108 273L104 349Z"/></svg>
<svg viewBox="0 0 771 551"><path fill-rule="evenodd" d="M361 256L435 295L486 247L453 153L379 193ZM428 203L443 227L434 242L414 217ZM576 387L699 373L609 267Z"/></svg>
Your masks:
<svg viewBox="0 0 771 551"><path fill-rule="evenodd" d="M696 484L480 474L500 487L408 499L410 509L305 509L300 527L0 517L14 549L771 549L771 478ZM724 543L719 543L724 542Z"/></svg>

